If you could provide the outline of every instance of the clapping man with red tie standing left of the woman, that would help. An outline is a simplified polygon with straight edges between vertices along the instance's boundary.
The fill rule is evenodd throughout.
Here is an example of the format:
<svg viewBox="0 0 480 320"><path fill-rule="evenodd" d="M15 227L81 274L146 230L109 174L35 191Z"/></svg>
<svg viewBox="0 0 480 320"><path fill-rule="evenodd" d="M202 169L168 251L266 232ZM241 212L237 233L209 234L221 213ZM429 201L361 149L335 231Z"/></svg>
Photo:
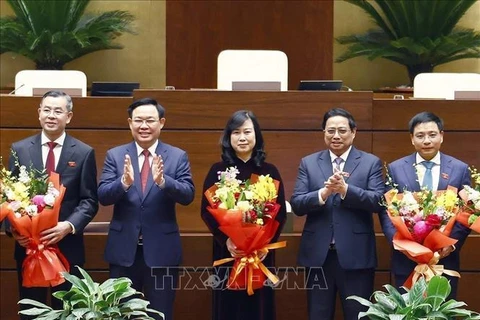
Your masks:
<svg viewBox="0 0 480 320"><path fill-rule="evenodd" d="M130 278L171 320L182 255L175 205L193 201L190 164L159 140L165 109L157 101L137 100L128 115L134 141L107 152L98 189L100 203L114 205L105 259L111 277Z"/></svg>

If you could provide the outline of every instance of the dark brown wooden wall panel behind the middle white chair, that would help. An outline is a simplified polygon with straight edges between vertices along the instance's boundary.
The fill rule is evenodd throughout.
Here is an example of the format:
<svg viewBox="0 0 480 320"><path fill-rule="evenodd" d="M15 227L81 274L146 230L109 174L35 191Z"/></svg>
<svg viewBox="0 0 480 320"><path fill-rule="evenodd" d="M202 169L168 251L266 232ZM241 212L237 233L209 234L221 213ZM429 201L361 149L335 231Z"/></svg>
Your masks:
<svg viewBox="0 0 480 320"><path fill-rule="evenodd" d="M216 88L226 49L285 52L290 89L333 77L333 0L169 0L166 14L167 85Z"/></svg>

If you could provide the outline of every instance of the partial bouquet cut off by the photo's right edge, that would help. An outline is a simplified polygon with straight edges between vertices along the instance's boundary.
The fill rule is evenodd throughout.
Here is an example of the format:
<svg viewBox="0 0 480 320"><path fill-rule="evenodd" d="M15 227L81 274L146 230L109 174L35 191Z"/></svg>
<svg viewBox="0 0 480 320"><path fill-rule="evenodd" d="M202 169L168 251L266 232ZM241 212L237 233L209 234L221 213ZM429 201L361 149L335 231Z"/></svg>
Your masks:
<svg viewBox="0 0 480 320"><path fill-rule="evenodd" d="M463 200L463 207L457 216L457 221L464 226L480 233L480 173L476 168L469 168L472 173L473 187L463 186L460 191L460 198Z"/></svg>

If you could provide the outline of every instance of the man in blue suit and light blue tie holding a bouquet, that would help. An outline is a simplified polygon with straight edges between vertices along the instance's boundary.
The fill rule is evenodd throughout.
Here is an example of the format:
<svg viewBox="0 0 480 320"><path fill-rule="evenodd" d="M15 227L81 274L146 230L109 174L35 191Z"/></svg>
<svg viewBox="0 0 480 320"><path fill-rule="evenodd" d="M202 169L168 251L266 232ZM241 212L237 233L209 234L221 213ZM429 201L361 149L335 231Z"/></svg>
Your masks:
<svg viewBox="0 0 480 320"><path fill-rule="evenodd" d="M410 120L409 130L416 152L388 165L388 174L392 182L398 185L398 190L420 191L423 187L437 191L445 190L450 185L460 191L464 185L470 185L467 164L440 152L443 142L442 119L431 112L421 112ZM383 232L392 243L396 229L385 211L379 214L379 217ZM469 233L470 229L458 222L455 223L450 236L458 242L455 246L440 251L440 256L444 258L439 264L444 265L446 269L459 270L459 251ZM403 253L393 250L391 265L395 285L401 287L416 264ZM458 278L449 279L452 285L450 297L455 298Z"/></svg>

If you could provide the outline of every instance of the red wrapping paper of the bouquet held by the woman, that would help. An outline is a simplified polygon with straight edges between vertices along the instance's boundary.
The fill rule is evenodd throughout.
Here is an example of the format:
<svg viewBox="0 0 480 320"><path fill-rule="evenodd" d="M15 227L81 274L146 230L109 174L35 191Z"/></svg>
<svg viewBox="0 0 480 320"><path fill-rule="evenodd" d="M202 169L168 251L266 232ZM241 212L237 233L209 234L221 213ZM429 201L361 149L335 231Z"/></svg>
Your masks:
<svg viewBox="0 0 480 320"><path fill-rule="evenodd" d="M257 179L258 176L252 175L250 181L254 183ZM275 181L275 185L278 190L279 182ZM237 259L225 258L217 260L213 266L234 261L227 283L227 288L230 290L247 290L248 295L252 295L254 293L253 290L263 287L267 277L272 283L276 284L279 281L278 277L272 274L261 262L259 255L267 254L269 250L286 246L286 241L270 243L280 225L275 220L280 205L275 203L273 209L269 211L271 218L267 220L265 225L245 223L243 222L244 214L241 210L214 208L215 204L212 195L216 189L214 185L205 192L205 196L211 205L207 209L218 222L219 229L232 240L239 250L244 251L246 256Z"/></svg>

